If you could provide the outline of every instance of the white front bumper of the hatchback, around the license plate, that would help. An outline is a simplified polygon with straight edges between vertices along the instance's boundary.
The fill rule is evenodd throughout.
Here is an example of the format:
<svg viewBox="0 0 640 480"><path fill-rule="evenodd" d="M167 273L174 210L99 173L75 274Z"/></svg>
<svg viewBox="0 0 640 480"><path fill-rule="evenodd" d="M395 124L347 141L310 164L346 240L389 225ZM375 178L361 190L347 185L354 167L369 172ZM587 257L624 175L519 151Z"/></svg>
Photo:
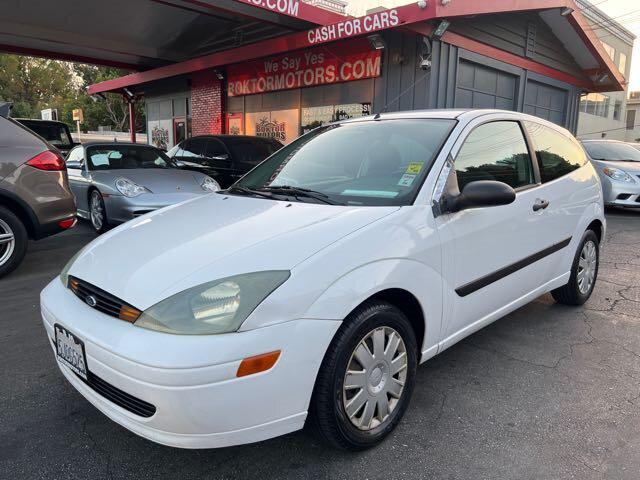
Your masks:
<svg viewBox="0 0 640 480"><path fill-rule="evenodd" d="M57 278L42 292L41 306L50 339L55 323L73 332L85 344L92 374L152 404L155 413L131 413L58 363L67 380L125 428L183 448L256 442L302 428L318 368L340 325L300 319L225 335L163 334L90 308ZM270 370L236 378L243 358L274 350L282 353Z"/></svg>

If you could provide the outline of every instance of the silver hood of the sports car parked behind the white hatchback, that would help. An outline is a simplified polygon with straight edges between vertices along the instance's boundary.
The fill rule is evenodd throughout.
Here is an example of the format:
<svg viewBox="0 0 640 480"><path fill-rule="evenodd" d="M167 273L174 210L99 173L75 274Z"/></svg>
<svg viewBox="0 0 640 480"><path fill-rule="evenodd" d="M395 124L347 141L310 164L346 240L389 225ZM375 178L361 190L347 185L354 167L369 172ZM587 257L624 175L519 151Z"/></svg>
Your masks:
<svg viewBox="0 0 640 480"><path fill-rule="evenodd" d="M204 174L178 168L98 170L91 172L91 176L95 181L109 185L115 185L118 178L128 178L138 185L147 187L152 193L202 193L201 185L205 179Z"/></svg>

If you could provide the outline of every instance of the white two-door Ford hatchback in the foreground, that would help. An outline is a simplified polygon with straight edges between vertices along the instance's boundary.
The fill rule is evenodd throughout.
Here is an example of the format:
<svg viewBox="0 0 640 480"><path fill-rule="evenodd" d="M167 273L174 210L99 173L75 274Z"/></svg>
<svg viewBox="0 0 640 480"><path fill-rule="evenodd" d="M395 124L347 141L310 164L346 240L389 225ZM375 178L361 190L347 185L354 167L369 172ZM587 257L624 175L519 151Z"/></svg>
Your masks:
<svg viewBox="0 0 640 480"><path fill-rule="evenodd" d="M566 130L383 114L96 239L42 316L67 380L150 440L221 447L306 422L363 449L402 418L419 363L545 292L585 302L604 230Z"/></svg>

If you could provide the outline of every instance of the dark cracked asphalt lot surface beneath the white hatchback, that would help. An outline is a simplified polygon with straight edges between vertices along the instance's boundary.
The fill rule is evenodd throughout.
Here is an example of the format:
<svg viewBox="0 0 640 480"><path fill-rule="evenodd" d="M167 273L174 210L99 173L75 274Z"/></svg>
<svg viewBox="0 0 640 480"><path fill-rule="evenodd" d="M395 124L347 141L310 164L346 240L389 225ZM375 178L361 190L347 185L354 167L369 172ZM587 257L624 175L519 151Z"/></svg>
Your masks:
<svg viewBox="0 0 640 480"><path fill-rule="evenodd" d="M640 211L608 212L583 308L545 295L422 365L399 428L357 454L305 431L179 450L102 415L58 371L38 306L94 237L80 224L34 242L0 280L1 479L640 478Z"/></svg>

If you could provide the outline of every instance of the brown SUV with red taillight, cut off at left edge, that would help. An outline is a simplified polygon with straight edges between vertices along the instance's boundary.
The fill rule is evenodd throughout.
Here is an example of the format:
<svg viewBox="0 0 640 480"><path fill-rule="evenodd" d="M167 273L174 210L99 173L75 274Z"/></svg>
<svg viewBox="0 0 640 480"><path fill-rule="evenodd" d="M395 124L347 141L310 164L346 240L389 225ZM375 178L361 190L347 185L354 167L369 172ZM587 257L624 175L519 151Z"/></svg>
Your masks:
<svg viewBox="0 0 640 480"><path fill-rule="evenodd" d="M0 277L20 264L30 238L71 228L75 213L60 153L0 116Z"/></svg>

